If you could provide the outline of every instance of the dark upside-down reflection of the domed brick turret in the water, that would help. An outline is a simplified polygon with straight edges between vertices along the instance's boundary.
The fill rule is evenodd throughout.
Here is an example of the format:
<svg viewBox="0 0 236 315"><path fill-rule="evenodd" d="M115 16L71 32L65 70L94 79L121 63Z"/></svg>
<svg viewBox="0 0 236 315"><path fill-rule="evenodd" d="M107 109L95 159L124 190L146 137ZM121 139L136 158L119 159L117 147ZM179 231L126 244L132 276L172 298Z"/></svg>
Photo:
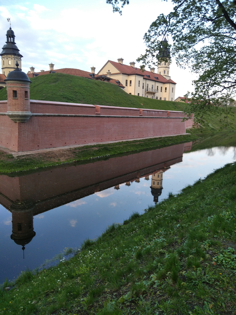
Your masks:
<svg viewBox="0 0 236 315"><path fill-rule="evenodd" d="M11 205L12 212L12 235L11 239L17 245L21 245L24 251L25 245L30 243L35 236L33 227L33 203L15 202Z"/></svg>

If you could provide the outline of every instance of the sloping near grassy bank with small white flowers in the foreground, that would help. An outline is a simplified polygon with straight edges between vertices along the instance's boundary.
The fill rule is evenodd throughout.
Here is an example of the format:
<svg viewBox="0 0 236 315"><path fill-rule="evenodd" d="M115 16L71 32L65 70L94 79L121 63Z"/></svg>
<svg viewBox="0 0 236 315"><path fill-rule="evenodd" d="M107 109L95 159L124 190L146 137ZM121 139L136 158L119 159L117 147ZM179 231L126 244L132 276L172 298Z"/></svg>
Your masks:
<svg viewBox="0 0 236 315"><path fill-rule="evenodd" d="M235 314L236 164L23 273L0 314ZM8 283L4 287L9 286Z"/></svg>

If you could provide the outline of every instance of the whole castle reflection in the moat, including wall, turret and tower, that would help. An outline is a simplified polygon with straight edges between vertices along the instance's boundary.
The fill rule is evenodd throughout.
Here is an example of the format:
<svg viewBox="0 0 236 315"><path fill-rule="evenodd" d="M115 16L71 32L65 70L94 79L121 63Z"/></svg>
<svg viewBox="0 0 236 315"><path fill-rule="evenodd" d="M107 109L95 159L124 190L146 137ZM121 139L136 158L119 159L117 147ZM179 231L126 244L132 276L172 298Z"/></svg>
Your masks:
<svg viewBox="0 0 236 315"><path fill-rule="evenodd" d="M163 172L181 162L191 143L111 157L81 165L61 166L34 174L0 175L0 203L12 213L11 238L25 249L36 235L33 216L119 184L130 186L151 175L154 202L162 191Z"/></svg>

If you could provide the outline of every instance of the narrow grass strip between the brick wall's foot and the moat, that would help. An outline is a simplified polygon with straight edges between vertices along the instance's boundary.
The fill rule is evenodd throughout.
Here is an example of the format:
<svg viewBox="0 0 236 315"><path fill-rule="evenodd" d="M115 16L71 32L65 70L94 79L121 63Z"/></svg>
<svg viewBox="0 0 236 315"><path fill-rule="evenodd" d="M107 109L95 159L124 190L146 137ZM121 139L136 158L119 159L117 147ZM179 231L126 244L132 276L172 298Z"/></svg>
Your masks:
<svg viewBox="0 0 236 315"><path fill-rule="evenodd" d="M107 158L116 154L150 150L171 146L173 144L196 140L195 135L178 135L173 137L149 138L144 140L121 141L93 146L57 151L41 152L31 155L13 157L12 154L0 152L0 173L28 171L61 163L89 162L93 158Z"/></svg>

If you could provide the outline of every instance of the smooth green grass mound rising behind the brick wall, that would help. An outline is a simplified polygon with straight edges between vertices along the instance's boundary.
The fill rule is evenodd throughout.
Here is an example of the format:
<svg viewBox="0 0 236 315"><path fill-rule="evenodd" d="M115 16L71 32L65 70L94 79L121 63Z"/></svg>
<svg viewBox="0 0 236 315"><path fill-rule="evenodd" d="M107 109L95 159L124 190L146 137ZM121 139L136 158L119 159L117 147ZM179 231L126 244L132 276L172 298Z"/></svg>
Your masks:
<svg viewBox="0 0 236 315"><path fill-rule="evenodd" d="M92 105L121 106L182 111L182 103L154 100L129 95L115 84L52 73L31 79L31 100L48 100ZM0 100L6 100L6 89L0 90ZM143 105L142 105L143 104Z"/></svg>

